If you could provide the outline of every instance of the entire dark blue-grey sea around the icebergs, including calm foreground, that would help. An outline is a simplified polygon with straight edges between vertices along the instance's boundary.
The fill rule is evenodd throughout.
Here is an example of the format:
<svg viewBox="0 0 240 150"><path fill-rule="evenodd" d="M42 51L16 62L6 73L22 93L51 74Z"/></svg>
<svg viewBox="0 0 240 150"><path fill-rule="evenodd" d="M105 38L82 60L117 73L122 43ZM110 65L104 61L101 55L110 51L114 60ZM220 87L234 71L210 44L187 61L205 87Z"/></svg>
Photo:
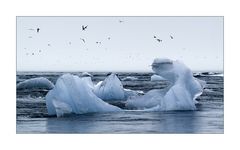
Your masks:
<svg viewBox="0 0 240 150"><path fill-rule="evenodd" d="M56 82L63 73L18 72L17 83L35 77ZM80 73L72 73L80 75ZM91 73L93 82L104 80L107 73ZM122 81L124 88L147 92L161 89L167 81L150 81L152 73L118 73L138 80ZM88 113L57 118L48 116L45 95L48 90L17 90L16 133L224 133L223 77L196 75L206 81L198 97L196 111Z"/></svg>

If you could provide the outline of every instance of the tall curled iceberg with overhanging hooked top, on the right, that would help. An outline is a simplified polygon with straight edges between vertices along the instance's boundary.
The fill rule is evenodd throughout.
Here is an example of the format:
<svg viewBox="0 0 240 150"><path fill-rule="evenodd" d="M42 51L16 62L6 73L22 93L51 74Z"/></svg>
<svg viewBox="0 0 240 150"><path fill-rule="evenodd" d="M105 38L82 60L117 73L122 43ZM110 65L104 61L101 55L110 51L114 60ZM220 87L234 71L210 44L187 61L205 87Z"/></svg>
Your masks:
<svg viewBox="0 0 240 150"><path fill-rule="evenodd" d="M204 81L193 77L191 70L180 61L156 58L153 71L171 82L163 90L151 90L144 96L128 99L126 106L154 111L195 110L196 98L203 92Z"/></svg>

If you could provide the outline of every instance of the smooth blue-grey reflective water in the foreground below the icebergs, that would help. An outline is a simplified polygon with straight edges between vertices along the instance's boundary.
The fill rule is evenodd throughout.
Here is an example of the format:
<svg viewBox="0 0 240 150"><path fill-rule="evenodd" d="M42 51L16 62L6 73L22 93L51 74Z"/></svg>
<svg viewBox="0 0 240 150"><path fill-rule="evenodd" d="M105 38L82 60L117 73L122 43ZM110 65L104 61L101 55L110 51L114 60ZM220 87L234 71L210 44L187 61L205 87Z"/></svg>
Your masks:
<svg viewBox="0 0 240 150"><path fill-rule="evenodd" d="M223 133L222 112L118 112L19 121L19 133ZM24 130L21 130L22 129Z"/></svg>

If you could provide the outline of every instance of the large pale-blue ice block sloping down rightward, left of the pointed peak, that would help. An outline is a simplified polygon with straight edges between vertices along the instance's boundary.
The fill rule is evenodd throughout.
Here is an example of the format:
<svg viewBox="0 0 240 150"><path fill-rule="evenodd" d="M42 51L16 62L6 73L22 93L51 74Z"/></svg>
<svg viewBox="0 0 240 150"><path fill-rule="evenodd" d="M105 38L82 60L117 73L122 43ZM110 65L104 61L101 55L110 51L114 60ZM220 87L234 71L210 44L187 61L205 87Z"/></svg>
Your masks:
<svg viewBox="0 0 240 150"><path fill-rule="evenodd" d="M121 111L95 95L90 77L70 74L58 78L55 87L46 95L46 104L48 114L58 117L69 113Z"/></svg>

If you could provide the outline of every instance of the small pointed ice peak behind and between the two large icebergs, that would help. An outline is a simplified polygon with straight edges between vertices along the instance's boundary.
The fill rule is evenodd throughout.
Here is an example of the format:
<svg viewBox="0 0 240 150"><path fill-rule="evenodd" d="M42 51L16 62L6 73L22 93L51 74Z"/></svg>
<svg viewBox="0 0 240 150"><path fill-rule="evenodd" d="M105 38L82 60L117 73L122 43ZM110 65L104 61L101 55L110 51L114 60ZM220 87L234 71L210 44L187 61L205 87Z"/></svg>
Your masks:
<svg viewBox="0 0 240 150"><path fill-rule="evenodd" d="M100 81L94 88L94 93L106 101L124 100L125 92L121 81L112 73L104 81Z"/></svg>

